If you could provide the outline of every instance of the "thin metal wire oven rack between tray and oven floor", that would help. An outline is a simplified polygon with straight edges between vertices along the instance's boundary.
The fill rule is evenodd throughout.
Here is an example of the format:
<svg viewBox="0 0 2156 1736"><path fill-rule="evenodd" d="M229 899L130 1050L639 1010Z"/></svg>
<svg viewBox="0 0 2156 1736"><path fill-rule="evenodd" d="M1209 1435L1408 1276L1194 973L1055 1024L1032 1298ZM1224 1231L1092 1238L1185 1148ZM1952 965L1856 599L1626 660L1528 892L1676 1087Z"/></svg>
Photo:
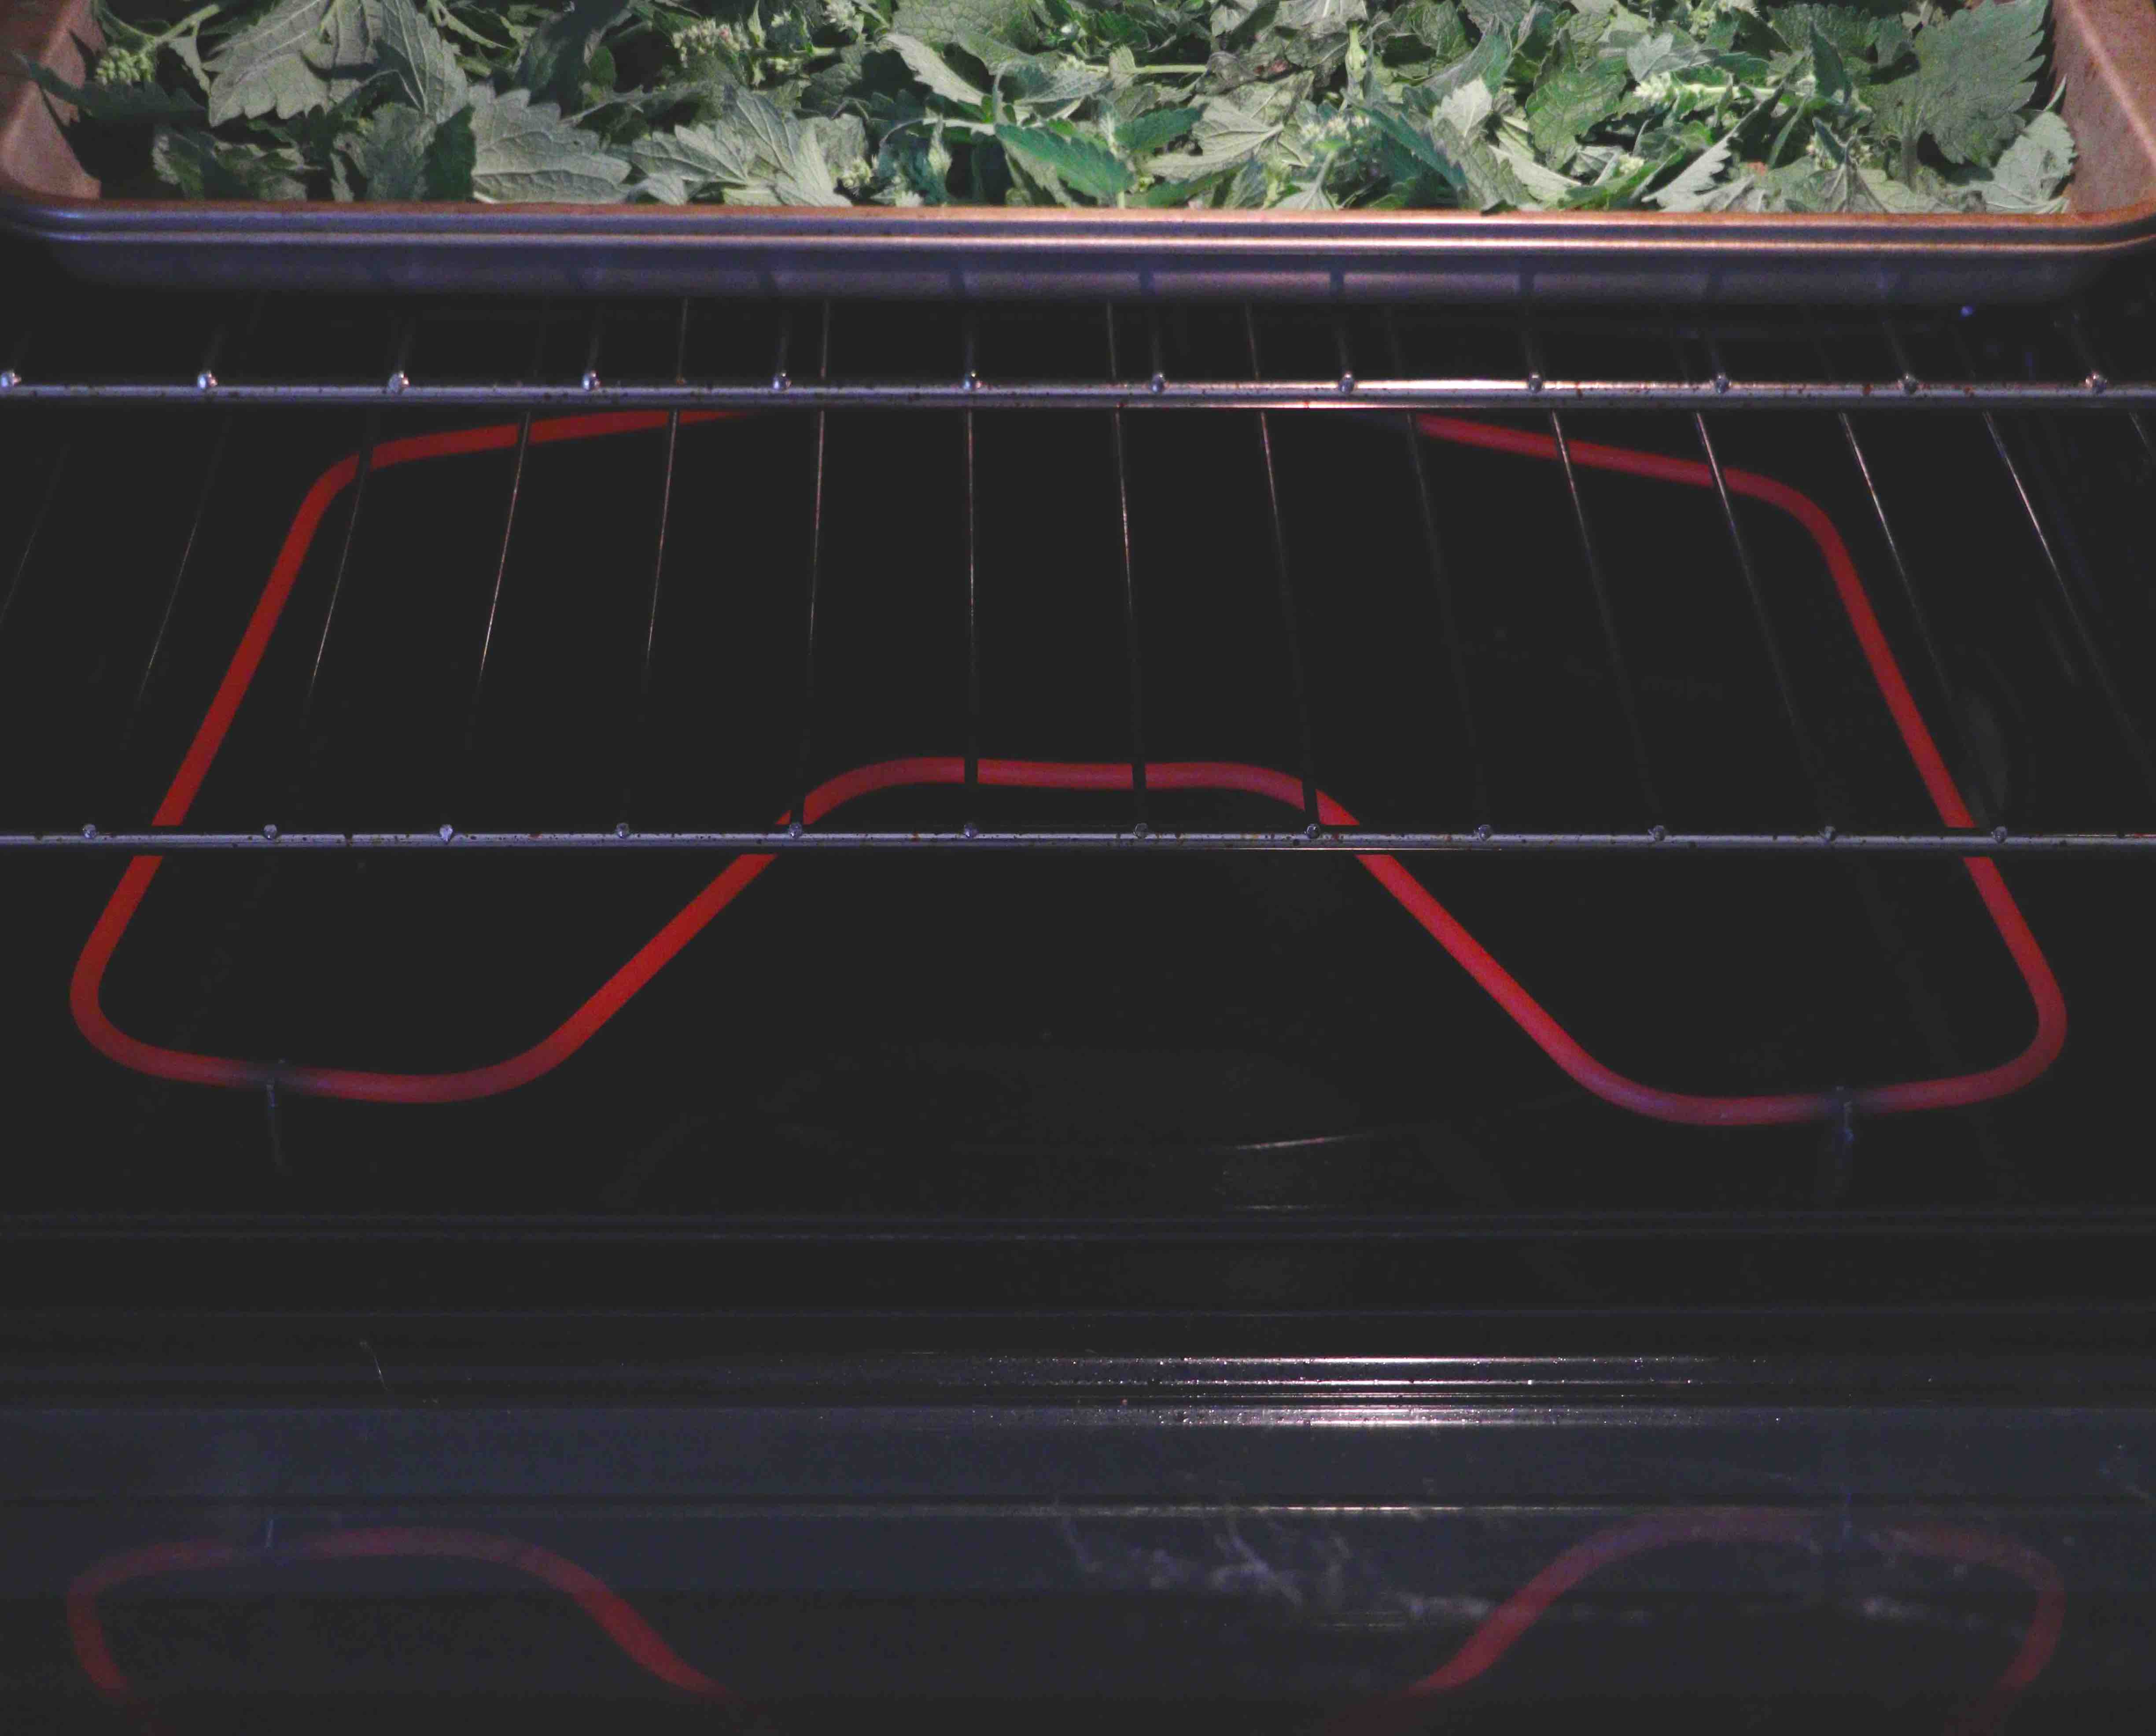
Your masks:
<svg viewBox="0 0 2156 1736"><path fill-rule="evenodd" d="M2145 293L2141 285L2128 285L2126 295ZM2111 298L2117 302L2117 295ZM1908 647L1917 656L1912 669L1927 669L1936 692L1951 690L1945 660L1932 636L1919 580L1904 559L1897 520L1902 505L1891 498L1891 490L1878 479L1871 461L1871 442L1880 423L1874 416L1893 416L1895 427L1906 418L1964 418L1981 423L1994 461L1994 474L1986 485L2005 490L2018 502L2035 546L2042 550L2044 580L2053 591L2053 602L2072 628L2074 653L2081 671L2102 697L2102 709L2124 748L2143 791L2156 804L2156 757L2150 750L2150 735L2134 707L2128 703L2128 684L2122 681L2113 653L2102 643L2096 621L2102 604L2093 597L2096 576L2078 552L2078 537L2070 522L2070 507L2055 477L2044 474L2031 431L2061 414L2076 425L2104 421L2132 431L2132 440L2156 457L2156 367L2150 377L2141 377L2139 367L2115 369L2104 354L2098 332L2122 332L2115 306L2091 308L2072 304L2048 315L2037 315L2016 328L2007 349L2018 347L2024 377L2007 377L1996 369L1996 341L1992 358L1979 358L1971 343L1971 330L1981 326L1977 308L1949 308L1936 313L1882 313L1850 315L1841 311L1789 311L1757 313L1746 311L1727 319L1673 315L1550 315L1539 311L1520 313L1475 313L1475 311L1298 311L1281 315L1242 306L1231 311L1203 311L1203 317L1229 321L1240 328L1240 352L1248 362L1248 377L1188 375L1169 364L1162 330L1175 311L1160 308L1061 308L1048 317L1074 328L1097 332L1097 349L1104 360L1102 377L998 377L981 367L983 313L966 308L953 315L959 330L955 367L946 377L869 377L847 375L832 369L834 336L843 339L845 326L858 319L847 304L811 304L765 311L770 315L770 369L763 377L692 377L686 367L690 334L696 326L724 321L735 323L733 308L722 304L699 304L679 300L671 304L640 304L625 315L621 304L507 304L474 311L455 302L371 304L371 319L379 321L379 347L388 358L388 369L375 380L330 377L328 371L308 375L289 371L278 375L250 377L235 352L246 349L248 336L261 326L265 298L252 302L216 302L192 308L194 326L205 330L194 354L192 375L185 362L177 362L164 373L138 369L132 373L103 373L95 367L95 352L84 345L78 313L50 315L45 326L58 321L58 332L45 330L39 321L9 334L0 328L0 354L9 367L0 371L0 425L26 436L43 418L52 427L88 433L97 416L80 421L75 412L106 410L172 410L196 416L211 416L211 431L205 436L209 461L203 470L198 494L190 507L192 524L201 526L209 511L209 498L218 485L220 464L241 416L254 418L295 410L345 410L354 412L354 507L351 520L364 507L364 483L373 470L375 453L384 442L384 418L416 412L492 410L515 416L515 470L509 500L502 513L502 550L515 531L517 485L524 472L524 455L533 444L533 429L545 427L545 418L580 416L606 418L645 412L653 416L666 433L664 479L660 500L673 498L675 455L679 431L686 421L737 414L780 414L800 416L813 423L813 524L808 526L808 571L804 576L806 608L806 664L802 677L804 740L800 746L802 774L798 779L800 800L778 824L763 828L642 828L632 824L597 826L459 826L455 815L429 824L403 828L336 828L336 826L280 826L265 819L259 828L190 828L188 824L140 824L123 813L84 815L69 826L22 826L6 824L0 809L0 854L26 856L114 856L114 854L354 854L354 852L397 852L412 856L448 856L472 852L591 852L591 854L640 854L640 852L690 852L690 854L789 854L789 852L1112 852L1112 854L1166 854L1166 852L1365 852L1365 854L1475 854L1475 856L1647 856L1658 860L1680 860L1699 856L1779 856L1789 860L1835 860L1850 856L1943 856L1943 858L1986 858L1986 856L2050 856L2050 858L2113 858L2143 856L2156 852L2156 830L2119 828L2063 828L2029 830L1977 817L1968 826L1938 828L1882 828L1850 824L1835 815L1835 802L1822 779L1815 727L1805 718L1805 707L1792 686L1785 653L1779 645L1779 630L1770 619L1746 531L1740 522L1736 494L1731 487L1731 466L1725 464L1718 433L1720 418L1738 412L1830 418L1839 427L1841 444L1850 461L1850 472L1861 483L1863 498L1876 520L1876 531L1891 554L1891 571L1874 574L1874 587L1893 587L1897 606L1906 610L1917 645ZM2139 308L2132 302L2132 308ZM621 377L608 371L610 330L619 330L623 319L642 326L668 326L673 330L673 377L638 377L627 369ZM994 321L990 311L987 319ZM1044 317L1035 311L1028 317ZM539 330L543 354L548 332L571 330L580 334L582 371L569 380L545 380L535 356L522 380L459 380L448 371L425 371L412 364L414 347L425 345L429 332L451 332L487 319L496 326L533 326ZM175 328L188 328L188 319L175 319ZM1337 371L1330 375L1311 373L1268 373L1263 356L1274 334L1285 326L1296 328L1298 354L1330 349ZM1658 332L1664 343L1669 367L1660 375L1611 371L1591 375L1578 369L1546 369L1546 354L1552 345L1563 345L1570 356L1593 356L1600 334L1626 339L1632 347L1611 343L1613 360L1623 360L1636 352L1641 332ZM1416 345L1427 349L1436 332L1466 334L1481 345L1479 354L1511 349L1520 356L1520 371L1498 377L1490 371L1436 371L1416 367ZM2033 332L2033 336L2031 336ZM1136 336L1136 343L1132 341ZM1802 345L1818 362L1815 377L1798 371L1761 373L1736 367L1733 358L1746 347ZM1958 371L1919 371L1915 352L1930 347L1934 354L1953 354ZM647 345L649 349L649 345ZM1846 362L1854 352L1884 358L1884 367L1861 373ZM1128 362L1145 354L1145 364L1132 369ZM1371 373L1367 360L1382 356L1388 369ZM1988 367L1988 360L1992 362ZM2139 362L2141 358L2134 358ZM2150 358L2156 362L2156 358ZM1128 681L1130 681L1130 815L1121 824L1089 828L860 828L811 822L802 826L796 815L804 811L808 798L806 763L808 735L817 712L817 589L819 554L824 543L824 449L826 425L837 412L934 412L959 416L966 427L966 669L968 669L968 738L964 753L964 787L979 785L981 768L981 705L979 705L979 574L975 571L975 418L987 412L1089 412L1106 425L1106 436L1115 451L1117 492L1123 518L1123 561L1117 576L1123 593ZM1263 487L1270 505L1270 541L1274 552L1274 580L1279 593L1281 630L1287 640L1287 671L1294 714L1300 735L1300 766L1296 768L1302 813L1296 824L1274 828L1197 830L1164 828L1149 824L1145 809L1147 755L1145 755L1145 703L1143 671L1138 649L1138 608L1132 546L1130 546L1130 492L1132 470L1125 455L1125 416L1147 410L1212 410L1248 416L1259 427L1263 461ZM1369 828L1358 824L1328 822L1322 813L1319 779L1313 757L1313 735L1309 699L1304 692L1304 649L1298 643L1296 574L1291 571L1287 539L1283 531L1279 459L1270 433L1270 418L1287 412L1350 414L1363 421L1395 425L1406 431L1408 444L1416 444L1416 416L1434 412L1479 412L1511 416L1518 425L1548 429L1554 442L1554 457L1563 472L1572 518L1578 526L1578 550L1600 621L1602 649L1608 677L1623 707L1626 733L1639 763L1643 791L1643 824L1630 828L1501 828L1473 815L1477 824L1447 824L1434 828ZM1654 813L1654 768L1647 763L1645 738L1634 712L1632 684L1623 643L1613 617L1604 559L1598 552L1593 513L1580 490L1576 464L1580 442L1570 429L1570 418L1593 414L1660 414L1682 416L1697 440L1699 459L1705 474L1712 474L1712 492L1718 500L1720 520L1727 531L1727 552L1736 576L1742 580L1751 617L1772 671L1781 714L1787 722L1789 746L1805 768L1818 798L1818 824L1777 826L1770 830L1684 830L1651 824ZM28 442L26 442L28 444ZM43 507L52 505L60 474L78 444L73 433L58 433L52 440L47 477L43 485ZM1429 550L1429 580L1434 582L1440 608L1451 619L1451 587L1457 576L1447 571L1442 533L1429 496L1429 457L1416 455L1419 509ZM22 587L30 556L45 535L43 507L28 520L13 526L13 550L0 541L0 647L9 630L9 615ZM651 610L653 623L660 608L660 576L666 565L666 513L664 505L655 528ZM323 643L334 630L334 597L343 591L343 563L351 552L351 526L343 533L343 554L338 556L336 580L332 582L332 617L323 623ZM151 640L149 662L136 684L138 705L157 675L157 660L166 640L166 628L177 608L183 606L188 587L188 563L192 537L181 548L177 569L164 587L164 617ZM653 625L655 632L655 625ZM489 617L492 636L492 617ZM1457 690L1462 740L1473 746L1475 718L1466 690L1466 675L1460 662L1460 645L1434 647L1438 653L1434 669L1445 669ZM645 686L649 690L651 662L645 662ZM479 681L485 684L485 651L481 651ZM476 694L474 694L476 707ZM1949 722L1949 727L1958 727ZM1835 815L1835 817L1828 817Z"/></svg>

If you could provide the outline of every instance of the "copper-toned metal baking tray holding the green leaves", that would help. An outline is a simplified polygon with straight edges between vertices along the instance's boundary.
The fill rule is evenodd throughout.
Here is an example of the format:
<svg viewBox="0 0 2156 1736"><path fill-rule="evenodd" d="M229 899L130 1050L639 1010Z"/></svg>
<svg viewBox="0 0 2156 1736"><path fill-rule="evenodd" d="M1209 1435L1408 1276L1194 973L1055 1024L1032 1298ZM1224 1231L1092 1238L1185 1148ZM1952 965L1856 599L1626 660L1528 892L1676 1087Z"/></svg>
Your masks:
<svg viewBox="0 0 2156 1736"><path fill-rule="evenodd" d="M0 0L73 75L88 0ZM54 108L0 84L0 226L82 276L533 295L2037 302L2156 239L2156 6L2055 0L2081 144L2059 216L746 209L99 198Z"/></svg>

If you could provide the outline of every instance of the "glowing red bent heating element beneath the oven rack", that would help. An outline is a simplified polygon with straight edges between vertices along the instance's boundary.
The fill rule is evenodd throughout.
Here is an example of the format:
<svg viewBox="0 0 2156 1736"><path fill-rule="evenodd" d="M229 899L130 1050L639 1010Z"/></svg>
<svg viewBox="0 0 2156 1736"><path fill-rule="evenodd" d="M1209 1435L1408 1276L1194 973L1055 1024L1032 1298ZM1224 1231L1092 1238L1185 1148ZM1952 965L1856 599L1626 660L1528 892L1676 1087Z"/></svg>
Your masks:
<svg viewBox="0 0 2156 1736"><path fill-rule="evenodd" d="M683 416L683 421L709 418L711 414L707 412ZM1554 440L1542 433L1522 433L1485 423L1464 423L1449 416L1419 416L1416 421L1421 431L1432 440L1481 446L1488 451L1535 459L1557 457ZM647 412L569 416L563 421L535 423L530 438L533 444L550 444L608 433L630 433L636 429L660 427L662 423L664 416ZM386 442L375 449L373 466L377 470L386 470L414 459L500 451L513 442L515 427L511 425L464 429L457 433L427 433L410 440ZM1714 472L1705 464L1628 451L1623 446L1574 442L1572 459L1589 470L1613 470L1651 481L1680 483L1684 487L1714 485ZM330 509L330 502L354 481L356 474L358 461L347 457L326 470L302 500L300 511L291 522L291 531L285 537L285 546L278 552L276 565L272 567L270 582L263 587L261 600L254 604L254 612L239 638L239 647L233 651L224 679L209 703L209 712L203 716L203 722L194 733L194 742L190 744L185 759L181 759L179 772L172 776L172 785L157 804L157 813L151 819L153 826L179 826L188 817L188 809L201 791L203 779L209 774L209 768L218 757L218 748L224 744L224 735L239 712L239 703L246 699L248 686L252 684L263 653L270 647L270 636L276 632L278 617L282 615L291 587L300 576L302 563L306 561L315 531L321 524L323 513ZM1968 804L1962 800L1960 789L1955 789L1953 776L1947 772L1947 766L1938 755L1938 746L1932 742L1932 733L1917 709L1917 701L1912 699L1908 684L1902 679L1893 649L1887 645L1887 634L1880 630L1871 602L1865 595L1863 580L1856 574L1856 565L1850 559L1848 546L1841 541L1833 520L1807 494L1800 494L1798 490L1770 477L1759 477L1749 470L1727 470L1725 479L1733 494L1779 507L1811 535L1820 556L1826 561L1835 595L1839 597L1850 628L1856 634L1856 643L1871 669L1880 697L1893 714L1895 729L1902 733L1902 742L1917 768L1917 774L1923 779L1923 785L1932 796L1932 804L1936 807L1940 822L1958 828L1971 826L1973 817L1968 813ZM1072 791L1130 789L1132 781L1130 768L1121 763L1074 766L1024 759L983 759L979 776L983 785L992 787ZM865 796L869 791L901 789L910 785L949 785L959 783L962 779L964 761L955 757L890 759L875 766L860 766L808 791L804 819L821 819L856 796ZM1285 772L1229 761L1147 766L1147 785L1151 789L1242 791L1263 796L1287 807L1300 807L1302 802L1300 783ZM1328 826L1356 824L1354 815L1330 796L1319 794L1317 811L1319 819ZM785 817L780 824L783 822ZM127 873L121 878L121 884L106 904L97 927L84 942L82 955L75 960L75 973L69 986L69 1005L73 1009L75 1024L82 1029L82 1035L91 1039L91 1044L110 1055L114 1061L144 1074L155 1074L157 1078L252 1089L274 1083L285 1091L304 1091L328 1098L429 1104L487 1098L515 1089L517 1085L528 1085L541 1074L558 1067L578 1048L582 1048L599 1031L599 1027L619 1014L636 996L636 992L642 990L645 983L649 983L651 977L655 977L658 970L705 927L705 923L733 904L733 899L740 897L748 884L772 865L774 858L735 858L658 934L653 934L627 964L602 983L591 998L586 998L530 1048L489 1065L444 1074L364 1072L356 1067L313 1067L248 1061L226 1055L201 1055L142 1042L140 1037L134 1037L112 1024L99 1001L103 975L112 962L114 949L127 934L127 925L134 921L136 910L140 910L142 897L149 891L162 860L162 856L136 856L127 865ZM1968 858L1964 860L1964 869L1975 884L1986 912L1990 912L1992 925L1999 929L1999 938L2005 942L2007 953L2014 957L2014 964L2029 988L2029 998L2035 1003L2035 1035L2020 1055L2001 1065L1951 1078L1919 1078L1895 1085L1876 1085L1848 1098L1830 1091L1703 1096L1667 1091L1626 1078L1589 1055L1587 1048L1583 1048L1578 1039L1574 1039L1572 1033L1565 1031L1565 1027L1559 1024L1557 1018L1544 1009L1542 1003L1537 1003L1511 977L1511 973L1507 973L1505 966L1498 964L1442 904L1438 904L1436 897L1432 897L1432 893L1408 871L1406 865L1401 865L1395 856L1380 854L1363 854L1356 856L1356 860L1574 1080L1619 1108L1630 1108L1639 1115L1651 1115L1662 1121L1686 1121L1695 1126L1811 1121L1841 1113L1843 1104L1867 1115L1891 1115L1915 1108L1955 1108L2018 1091L2022 1085L2042 1074L2053 1059L2057 1059L2059 1048L2065 1042L2065 1001L2059 994L2059 983L2050 973L2050 964L2046 962L2042 947L2029 932L2029 923L2014 904L2014 895L2007 891L2005 880L2001 880L1999 869L1986 858Z"/></svg>

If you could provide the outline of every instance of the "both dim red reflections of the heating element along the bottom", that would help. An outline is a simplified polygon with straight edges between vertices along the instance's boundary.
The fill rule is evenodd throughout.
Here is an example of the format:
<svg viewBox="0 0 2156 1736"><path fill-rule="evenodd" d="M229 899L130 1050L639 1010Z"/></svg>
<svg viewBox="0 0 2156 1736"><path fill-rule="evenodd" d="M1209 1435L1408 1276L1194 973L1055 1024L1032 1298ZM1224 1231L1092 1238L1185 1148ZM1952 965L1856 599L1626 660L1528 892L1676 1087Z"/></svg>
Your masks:
<svg viewBox="0 0 2156 1736"><path fill-rule="evenodd" d="M1818 1533L1820 1520L1815 1514L1770 1507L1647 1514L1645 1518L1613 1525L1567 1548L1514 1592L1483 1620L1466 1645L1442 1669L1432 1671L1391 1699L1343 1712L1326 1727L1326 1736L1399 1736L1414 1730L1429 1714L1429 1701L1436 1695L1466 1686L1490 1671L1548 1613L1550 1604L1589 1574L1615 1561L1656 1548L1708 1542L1789 1544L1805 1548L1818 1540ZM1992 1684L1990 1693L1955 1721L1955 1730L1971 1736L1977 1732L1996 1732L2005 1723L2007 1712L2014 1710L2016 1699L2042 1676L2050 1663L2050 1654L2059 1645L2059 1632L2065 1624L2065 1581L2059 1576L2059 1570L2050 1559L2012 1538L1968 1531L1955 1525L1923 1520L1891 1525L1869 1533L1869 1540L1884 1551L1906 1551L1943 1561L1996 1568L2022 1579L2035 1592L2035 1613L2029 1617L2029 1628L2014 1661ZM97 1598L103 1592L136 1579L209 1572L263 1559L354 1561L382 1557L457 1557L515 1568L571 1598L649 1676L699 1699L733 1699L729 1689L722 1689L709 1676L675 1656L673 1648L653 1632L645 1617L602 1579L537 1544L485 1531L433 1531L416 1527L328 1531L270 1553L218 1540L151 1544L125 1555L110 1555L75 1576L67 1589L67 1630L75 1645L75 1658L82 1663L82 1671L91 1678L97 1693L112 1706L136 1706L134 1684L114 1661L103 1620L97 1613Z"/></svg>

